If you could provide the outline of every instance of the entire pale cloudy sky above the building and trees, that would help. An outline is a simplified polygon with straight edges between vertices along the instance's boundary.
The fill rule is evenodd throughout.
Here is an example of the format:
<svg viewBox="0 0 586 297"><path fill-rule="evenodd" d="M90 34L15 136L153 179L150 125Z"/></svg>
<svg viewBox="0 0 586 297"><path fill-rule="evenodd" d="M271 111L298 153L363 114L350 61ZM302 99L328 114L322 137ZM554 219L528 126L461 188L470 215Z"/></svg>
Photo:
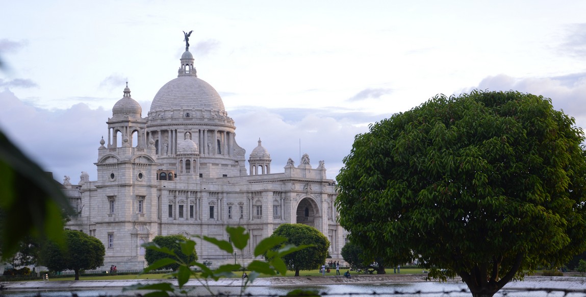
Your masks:
<svg viewBox="0 0 586 297"><path fill-rule="evenodd" d="M586 1L5 1L0 128L57 180L96 179L125 81L145 116L190 52L271 172L324 160L435 94L544 95L586 127ZM300 149L301 148L301 149Z"/></svg>

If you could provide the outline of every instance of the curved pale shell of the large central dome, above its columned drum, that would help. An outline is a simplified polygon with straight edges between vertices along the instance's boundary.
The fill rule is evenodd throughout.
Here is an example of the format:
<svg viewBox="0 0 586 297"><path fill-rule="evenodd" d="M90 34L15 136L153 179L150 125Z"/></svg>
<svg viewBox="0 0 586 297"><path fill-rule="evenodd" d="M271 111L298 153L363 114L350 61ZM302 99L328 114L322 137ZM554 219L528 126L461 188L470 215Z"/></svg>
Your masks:
<svg viewBox="0 0 586 297"><path fill-rule="evenodd" d="M222 98L210 84L196 76L181 75L156 93L151 103L151 112L180 108L225 111Z"/></svg>

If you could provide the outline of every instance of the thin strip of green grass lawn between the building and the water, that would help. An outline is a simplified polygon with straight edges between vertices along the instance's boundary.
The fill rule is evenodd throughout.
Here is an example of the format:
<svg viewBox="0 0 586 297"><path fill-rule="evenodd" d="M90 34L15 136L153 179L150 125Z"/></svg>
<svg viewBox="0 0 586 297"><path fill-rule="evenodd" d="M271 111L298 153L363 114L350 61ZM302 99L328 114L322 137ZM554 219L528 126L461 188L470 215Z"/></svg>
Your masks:
<svg viewBox="0 0 586 297"><path fill-rule="evenodd" d="M393 268L385 269L387 274L393 274ZM347 269L340 269L340 275L343 275ZM401 268L401 274L421 274L421 268ZM234 272L237 276L241 276L242 272ZM350 271L352 275L366 275L356 271ZM275 276L294 276L295 271L287 271L287 275L280 275L277 274ZM326 276L335 276L336 269L330 269L330 272L326 272ZM261 277L270 277L271 275L261 275ZM299 276L322 276L319 273L319 269L315 270L302 270L299 271ZM127 275L112 275L112 274L104 274L104 276L80 276L80 281L109 281L109 280L116 280L116 279L166 279L169 278L166 274L127 274ZM67 277L67 278L49 278L49 281L73 281L74 277Z"/></svg>

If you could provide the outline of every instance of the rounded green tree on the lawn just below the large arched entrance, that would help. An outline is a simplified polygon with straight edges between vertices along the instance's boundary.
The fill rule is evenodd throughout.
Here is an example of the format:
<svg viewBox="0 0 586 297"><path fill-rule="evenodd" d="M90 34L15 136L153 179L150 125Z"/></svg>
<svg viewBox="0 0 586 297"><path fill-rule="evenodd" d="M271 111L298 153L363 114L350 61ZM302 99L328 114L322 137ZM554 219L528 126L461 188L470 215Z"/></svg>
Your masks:
<svg viewBox="0 0 586 297"><path fill-rule="evenodd" d="M295 271L295 276L299 276L300 270L318 269L326 261L329 240L314 227L305 224L281 224L271 236L287 238L285 244L311 245L282 257L287 268Z"/></svg>

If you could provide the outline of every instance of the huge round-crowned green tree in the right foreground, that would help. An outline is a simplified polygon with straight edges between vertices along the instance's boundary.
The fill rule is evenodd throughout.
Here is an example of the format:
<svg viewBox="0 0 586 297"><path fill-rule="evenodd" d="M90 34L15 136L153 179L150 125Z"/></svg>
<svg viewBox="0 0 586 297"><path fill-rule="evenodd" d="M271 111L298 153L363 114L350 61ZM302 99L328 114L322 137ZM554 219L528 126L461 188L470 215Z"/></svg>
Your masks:
<svg viewBox="0 0 586 297"><path fill-rule="evenodd" d="M336 206L351 239L413 251L492 296L586 249L584 132L516 91L438 95L357 135Z"/></svg>

